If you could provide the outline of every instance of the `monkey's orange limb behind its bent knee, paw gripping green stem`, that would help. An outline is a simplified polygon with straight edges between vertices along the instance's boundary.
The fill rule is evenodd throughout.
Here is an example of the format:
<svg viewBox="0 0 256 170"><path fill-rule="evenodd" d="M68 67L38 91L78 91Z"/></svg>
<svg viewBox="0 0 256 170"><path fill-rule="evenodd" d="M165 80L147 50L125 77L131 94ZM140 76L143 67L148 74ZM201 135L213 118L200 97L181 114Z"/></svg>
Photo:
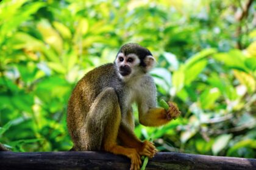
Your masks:
<svg viewBox="0 0 256 170"><path fill-rule="evenodd" d="M119 127L118 138L121 140L124 146L127 146L129 148L135 148L140 155L145 155L152 158L157 152L152 142L142 142L136 137L132 129L127 128L122 123Z"/></svg>

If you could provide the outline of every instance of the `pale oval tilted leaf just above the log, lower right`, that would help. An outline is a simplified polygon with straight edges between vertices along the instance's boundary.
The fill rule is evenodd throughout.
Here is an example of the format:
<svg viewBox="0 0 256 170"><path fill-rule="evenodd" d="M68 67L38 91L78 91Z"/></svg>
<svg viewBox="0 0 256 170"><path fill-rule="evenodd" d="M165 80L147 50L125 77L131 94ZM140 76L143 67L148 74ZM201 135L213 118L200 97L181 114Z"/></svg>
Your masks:
<svg viewBox="0 0 256 170"><path fill-rule="evenodd" d="M227 146L231 138L232 134L218 136L212 146L213 155L218 155L218 153Z"/></svg>

